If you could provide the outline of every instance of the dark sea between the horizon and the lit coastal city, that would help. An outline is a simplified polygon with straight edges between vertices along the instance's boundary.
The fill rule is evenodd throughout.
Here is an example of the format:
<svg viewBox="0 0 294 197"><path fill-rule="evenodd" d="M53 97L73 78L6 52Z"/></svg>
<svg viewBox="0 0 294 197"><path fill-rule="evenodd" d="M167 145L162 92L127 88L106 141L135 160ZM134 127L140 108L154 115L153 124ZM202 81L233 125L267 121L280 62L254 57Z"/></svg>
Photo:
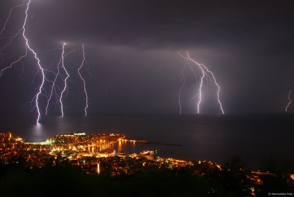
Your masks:
<svg viewBox="0 0 294 197"><path fill-rule="evenodd" d="M131 153L160 149L154 156L218 164L230 162L238 153L252 170L265 169L270 162L294 167L294 114L44 115L40 123L14 116L1 118L0 124L0 132L10 131L29 142L61 133L120 133L128 139L181 146L120 142L105 148Z"/></svg>

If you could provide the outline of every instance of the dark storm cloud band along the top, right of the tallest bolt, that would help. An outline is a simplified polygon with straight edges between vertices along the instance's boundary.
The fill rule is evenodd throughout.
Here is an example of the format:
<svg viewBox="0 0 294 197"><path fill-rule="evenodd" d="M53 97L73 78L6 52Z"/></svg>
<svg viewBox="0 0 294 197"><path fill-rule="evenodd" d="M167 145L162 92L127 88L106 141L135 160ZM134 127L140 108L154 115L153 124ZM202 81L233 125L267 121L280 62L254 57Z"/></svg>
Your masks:
<svg viewBox="0 0 294 197"><path fill-rule="evenodd" d="M286 50L293 41L292 5L291 1L38 1L31 7L34 21L43 21L34 35L47 31L54 35L46 36L50 41L66 35L69 41L148 49L254 44Z"/></svg>

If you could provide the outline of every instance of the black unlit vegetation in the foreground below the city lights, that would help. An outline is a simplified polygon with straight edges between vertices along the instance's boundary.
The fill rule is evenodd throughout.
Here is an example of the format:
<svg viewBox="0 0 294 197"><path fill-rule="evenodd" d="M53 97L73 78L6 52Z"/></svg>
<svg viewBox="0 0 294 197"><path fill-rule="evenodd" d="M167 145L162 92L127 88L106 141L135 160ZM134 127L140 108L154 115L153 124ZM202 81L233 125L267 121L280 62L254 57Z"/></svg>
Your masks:
<svg viewBox="0 0 294 197"><path fill-rule="evenodd" d="M110 176L90 175L70 163L26 168L21 162L1 162L0 191L4 196L252 196L244 185L249 172L224 169L195 174L193 168L139 169ZM277 176L264 176L256 196L294 193L293 185ZM260 190L260 191L258 191Z"/></svg>

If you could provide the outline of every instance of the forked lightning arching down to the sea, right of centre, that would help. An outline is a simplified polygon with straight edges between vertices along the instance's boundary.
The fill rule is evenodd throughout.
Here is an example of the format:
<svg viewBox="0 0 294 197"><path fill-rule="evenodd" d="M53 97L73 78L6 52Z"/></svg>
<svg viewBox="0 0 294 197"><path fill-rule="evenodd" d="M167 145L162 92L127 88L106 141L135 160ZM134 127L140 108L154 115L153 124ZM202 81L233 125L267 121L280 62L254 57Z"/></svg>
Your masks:
<svg viewBox="0 0 294 197"><path fill-rule="evenodd" d="M178 53L179 54L179 53ZM179 54L180 56L182 56L181 54ZM219 103L219 105L220 105L220 111L222 111L222 113L224 113L224 111L223 111L223 108L222 108L222 105L221 105L221 103L220 103L220 99L219 99L219 91L220 91L220 86L216 83L216 79L215 79L215 77L214 77L214 75L213 75L213 73L211 72L211 71L209 71L208 69L207 69L207 67L206 66L204 66L203 64L199 64L198 62L196 62L196 61L194 61L193 59L191 59L190 57L189 57L189 53L188 53L188 51L187 51L187 57L185 57L185 56L182 56L185 60L187 60L187 61L191 61L191 62L193 62L193 63L195 63L196 65L198 65L199 66L199 68L202 70L202 73L203 73L203 76L201 77L201 84L200 84L200 88L199 88L199 102L198 102L198 109L197 109L197 111L198 111L198 113L199 113L199 106L200 106L200 103L201 103L201 88L202 88L202 84L203 84L203 78L206 78L208 81L210 81L210 85L212 84L212 82L214 82L214 84L216 84L216 86L218 86L218 91L217 91L217 94L218 94L218 102L217 103ZM186 63L187 64L187 63ZM186 64L185 64L185 67L184 67L184 69L186 68ZM190 66L191 67L191 66ZM184 70L183 69L183 70ZM191 67L191 69L192 69L192 67ZM192 69L192 71L193 71L193 69ZM194 72L194 71L193 71ZM183 75L183 71L181 72L181 74ZM195 73L194 73L195 74ZM211 75L211 76L209 76L209 74ZM181 78L182 79L182 78ZM183 86L182 86L183 87ZM180 93L181 93L181 91L180 91ZM197 95L196 95L197 96ZM196 97L196 96L194 96L193 97L193 99ZM193 100L192 99L192 100ZM181 102L179 101L179 103L180 103L180 113L181 113ZM190 103L191 104L191 103Z"/></svg>

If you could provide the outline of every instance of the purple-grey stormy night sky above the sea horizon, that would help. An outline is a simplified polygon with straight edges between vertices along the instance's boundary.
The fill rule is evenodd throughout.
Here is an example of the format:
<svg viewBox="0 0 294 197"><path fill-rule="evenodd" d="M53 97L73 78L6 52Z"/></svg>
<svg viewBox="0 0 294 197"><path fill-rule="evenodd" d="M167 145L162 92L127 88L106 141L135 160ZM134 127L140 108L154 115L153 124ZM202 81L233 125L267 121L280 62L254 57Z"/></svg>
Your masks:
<svg viewBox="0 0 294 197"><path fill-rule="evenodd" d="M12 0L0 2L1 29L15 5ZM186 55L186 51L213 72L225 113L284 113L289 92L286 79L294 87L293 6L293 1L31 0L25 32L42 68L57 66L63 43L66 53L75 50L64 58L70 75L65 114L84 113L85 95L77 72L83 60L82 44L89 66L89 70L86 64L81 69L91 103L88 114L178 114L180 73L186 64L178 53ZM4 37L16 34L24 19L25 6L15 8L0 36L0 70L25 53L22 31L2 50L8 43ZM56 47L60 49L44 53ZM34 85L41 85L36 63L28 51L21 62L3 72L1 116L29 114L34 107L35 102L25 103L38 92ZM182 113L197 113L198 97L191 107L190 101L199 93L202 71L195 67L195 72L197 86L191 69L184 70ZM35 83L30 85L34 74ZM54 75L45 72L45 76L52 80ZM43 94L49 86L44 84ZM221 113L216 91L204 83L201 113ZM294 100L293 94L290 98ZM46 102L41 95L41 114ZM55 108L52 103L49 114L60 115L59 105ZM293 112L290 104L287 113ZM33 109L29 116L35 115Z"/></svg>

